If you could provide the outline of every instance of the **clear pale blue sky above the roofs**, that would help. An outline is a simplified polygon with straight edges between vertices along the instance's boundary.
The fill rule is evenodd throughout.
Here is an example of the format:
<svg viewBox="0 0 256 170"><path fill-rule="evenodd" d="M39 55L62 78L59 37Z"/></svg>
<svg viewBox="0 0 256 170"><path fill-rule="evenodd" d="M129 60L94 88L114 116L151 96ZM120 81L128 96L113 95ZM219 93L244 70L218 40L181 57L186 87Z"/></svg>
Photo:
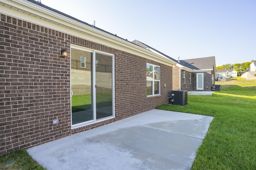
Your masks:
<svg viewBox="0 0 256 170"><path fill-rule="evenodd" d="M180 60L256 60L256 0L41 0L42 4Z"/></svg>

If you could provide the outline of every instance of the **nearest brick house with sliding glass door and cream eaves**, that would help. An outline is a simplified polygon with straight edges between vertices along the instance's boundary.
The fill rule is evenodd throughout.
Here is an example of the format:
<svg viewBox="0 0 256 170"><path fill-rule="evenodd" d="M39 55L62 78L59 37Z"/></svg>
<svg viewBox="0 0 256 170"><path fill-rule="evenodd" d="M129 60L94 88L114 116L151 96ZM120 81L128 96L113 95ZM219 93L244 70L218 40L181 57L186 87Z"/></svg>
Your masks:
<svg viewBox="0 0 256 170"><path fill-rule="evenodd" d="M168 57L35 0L0 9L0 155L170 103Z"/></svg>

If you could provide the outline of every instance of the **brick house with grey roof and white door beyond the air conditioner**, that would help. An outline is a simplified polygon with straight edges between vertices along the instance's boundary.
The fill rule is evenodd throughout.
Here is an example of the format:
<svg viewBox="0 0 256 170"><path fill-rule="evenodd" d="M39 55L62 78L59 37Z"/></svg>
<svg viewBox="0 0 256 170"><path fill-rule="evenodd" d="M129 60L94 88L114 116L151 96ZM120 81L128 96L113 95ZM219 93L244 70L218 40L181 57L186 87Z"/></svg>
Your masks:
<svg viewBox="0 0 256 170"><path fill-rule="evenodd" d="M172 69L173 90L213 90L215 84L214 75L216 72L215 57L177 61L138 40L134 40L132 43L176 62Z"/></svg>

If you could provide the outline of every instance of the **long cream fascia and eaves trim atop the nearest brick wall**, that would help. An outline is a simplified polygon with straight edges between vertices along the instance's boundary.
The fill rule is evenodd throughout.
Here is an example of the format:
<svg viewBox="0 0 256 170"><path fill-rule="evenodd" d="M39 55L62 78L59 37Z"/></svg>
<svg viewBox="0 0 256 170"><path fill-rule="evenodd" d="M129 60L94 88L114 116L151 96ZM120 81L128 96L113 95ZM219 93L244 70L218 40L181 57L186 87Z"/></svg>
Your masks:
<svg viewBox="0 0 256 170"><path fill-rule="evenodd" d="M26 0L1 0L0 13L173 66L174 61Z"/></svg>

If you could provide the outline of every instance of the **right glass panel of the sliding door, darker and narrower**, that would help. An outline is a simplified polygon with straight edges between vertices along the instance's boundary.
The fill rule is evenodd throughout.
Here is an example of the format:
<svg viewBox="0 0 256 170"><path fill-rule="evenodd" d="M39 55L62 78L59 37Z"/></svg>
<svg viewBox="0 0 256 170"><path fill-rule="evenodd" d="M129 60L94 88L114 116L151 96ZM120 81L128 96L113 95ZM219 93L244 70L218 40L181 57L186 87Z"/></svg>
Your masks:
<svg viewBox="0 0 256 170"><path fill-rule="evenodd" d="M95 54L96 119L113 116L112 56Z"/></svg>

